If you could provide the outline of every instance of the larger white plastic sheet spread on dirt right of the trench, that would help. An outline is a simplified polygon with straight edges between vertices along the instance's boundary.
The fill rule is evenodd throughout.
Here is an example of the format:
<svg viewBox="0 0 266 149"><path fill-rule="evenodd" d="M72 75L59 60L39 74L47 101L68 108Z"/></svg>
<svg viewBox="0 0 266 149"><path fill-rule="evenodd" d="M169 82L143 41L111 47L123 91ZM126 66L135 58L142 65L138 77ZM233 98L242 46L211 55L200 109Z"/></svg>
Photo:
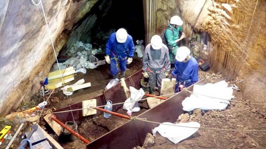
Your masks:
<svg viewBox="0 0 266 149"><path fill-rule="evenodd" d="M230 104L229 101L234 98L232 87L223 80L217 83L207 83L205 85L194 85L193 93L190 97L183 100L183 110L192 111L194 109L223 110ZM200 95L199 95L200 94ZM209 96L209 97L207 97ZM213 97L213 98L211 98ZM220 99L217 99L220 98ZM222 100L226 99L226 100Z"/></svg>

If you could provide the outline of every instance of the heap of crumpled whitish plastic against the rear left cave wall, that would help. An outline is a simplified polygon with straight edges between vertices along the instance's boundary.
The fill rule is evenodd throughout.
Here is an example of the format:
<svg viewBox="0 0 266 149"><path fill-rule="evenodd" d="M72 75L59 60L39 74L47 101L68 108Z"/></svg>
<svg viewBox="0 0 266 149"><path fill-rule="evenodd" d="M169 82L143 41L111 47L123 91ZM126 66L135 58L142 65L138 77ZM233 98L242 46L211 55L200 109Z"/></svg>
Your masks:
<svg viewBox="0 0 266 149"><path fill-rule="evenodd" d="M105 60L99 61L97 57L94 55L102 53L102 49L92 49L92 45L83 42L76 42L75 47L73 46L68 52L67 55L72 56L72 58L68 59L64 62L64 65L70 65L75 68L77 72L85 72L84 70L80 70L82 68L94 69L99 65L105 64ZM86 73L86 72L85 72Z"/></svg>

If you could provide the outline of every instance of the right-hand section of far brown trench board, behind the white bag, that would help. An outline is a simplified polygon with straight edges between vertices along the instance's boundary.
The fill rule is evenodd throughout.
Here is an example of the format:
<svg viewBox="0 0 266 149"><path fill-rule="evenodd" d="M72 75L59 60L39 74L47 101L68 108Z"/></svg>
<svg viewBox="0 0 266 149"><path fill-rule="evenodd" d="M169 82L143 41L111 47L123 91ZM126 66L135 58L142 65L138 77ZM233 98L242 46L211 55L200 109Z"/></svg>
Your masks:
<svg viewBox="0 0 266 149"><path fill-rule="evenodd" d="M125 79L125 83L128 86L133 86L136 89L140 89L141 85L140 85L140 80L142 77L142 70L134 73L132 76L129 76ZM113 104L115 103L120 103L120 102L124 102L127 98L125 96L124 90L121 87L121 84L118 83L115 86L113 86L112 88L109 88L108 90L103 92L106 102L108 100L111 100L113 102ZM113 111L118 110L119 108L121 108L123 106L123 104L118 104L118 105L113 105Z"/></svg>

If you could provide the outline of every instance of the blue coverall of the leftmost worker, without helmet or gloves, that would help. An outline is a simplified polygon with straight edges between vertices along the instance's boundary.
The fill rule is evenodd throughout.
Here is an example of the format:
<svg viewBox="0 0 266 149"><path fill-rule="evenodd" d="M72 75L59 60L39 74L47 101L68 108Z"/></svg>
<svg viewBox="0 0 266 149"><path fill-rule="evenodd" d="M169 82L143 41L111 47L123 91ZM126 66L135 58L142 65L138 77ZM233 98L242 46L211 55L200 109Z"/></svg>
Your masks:
<svg viewBox="0 0 266 149"><path fill-rule="evenodd" d="M121 71L127 69L127 58L134 55L134 42L130 35L128 35L126 42L119 43L116 40L116 32L112 33L105 46L105 54L110 55L110 71L112 76L118 74L118 64Z"/></svg>

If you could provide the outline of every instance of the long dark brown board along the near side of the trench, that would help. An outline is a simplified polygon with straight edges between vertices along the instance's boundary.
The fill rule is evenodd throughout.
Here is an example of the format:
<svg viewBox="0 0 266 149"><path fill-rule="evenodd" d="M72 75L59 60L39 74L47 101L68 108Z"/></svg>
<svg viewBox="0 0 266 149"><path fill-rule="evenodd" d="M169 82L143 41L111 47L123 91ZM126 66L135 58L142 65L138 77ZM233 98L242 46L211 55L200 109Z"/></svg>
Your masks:
<svg viewBox="0 0 266 149"><path fill-rule="evenodd" d="M197 82L198 85L205 84L205 80ZM193 85L188 88L193 90ZM188 92L180 92L171 98L165 100L161 104L145 111L138 117L147 118L147 120L155 122L175 122L178 116L184 111L182 110L182 101L190 96ZM124 125L112 130L111 132L97 138L90 144L87 149L131 149L137 145L141 146L146 134L151 133L158 124L147 123L140 120L131 120Z"/></svg>

